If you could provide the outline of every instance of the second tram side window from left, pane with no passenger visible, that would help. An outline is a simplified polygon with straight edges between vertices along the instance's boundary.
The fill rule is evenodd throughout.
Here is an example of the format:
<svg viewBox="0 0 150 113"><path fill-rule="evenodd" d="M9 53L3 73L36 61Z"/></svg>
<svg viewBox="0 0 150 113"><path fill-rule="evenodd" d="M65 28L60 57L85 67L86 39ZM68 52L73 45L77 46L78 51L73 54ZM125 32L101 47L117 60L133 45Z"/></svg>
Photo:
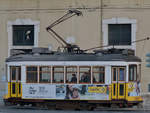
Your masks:
<svg viewBox="0 0 150 113"><path fill-rule="evenodd" d="M49 83L51 81L51 67L43 66L40 67L40 83Z"/></svg>

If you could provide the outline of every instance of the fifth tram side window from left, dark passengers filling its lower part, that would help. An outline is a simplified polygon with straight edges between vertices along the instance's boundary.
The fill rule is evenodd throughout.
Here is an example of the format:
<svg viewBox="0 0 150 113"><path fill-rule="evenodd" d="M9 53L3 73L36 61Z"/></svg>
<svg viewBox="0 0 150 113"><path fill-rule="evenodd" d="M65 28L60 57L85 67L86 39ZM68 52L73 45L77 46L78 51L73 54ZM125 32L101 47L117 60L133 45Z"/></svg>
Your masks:
<svg viewBox="0 0 150 113"><path fill-rule="evenodd" d="M91 67L80 67L80 83L91 83Z"/></svg>

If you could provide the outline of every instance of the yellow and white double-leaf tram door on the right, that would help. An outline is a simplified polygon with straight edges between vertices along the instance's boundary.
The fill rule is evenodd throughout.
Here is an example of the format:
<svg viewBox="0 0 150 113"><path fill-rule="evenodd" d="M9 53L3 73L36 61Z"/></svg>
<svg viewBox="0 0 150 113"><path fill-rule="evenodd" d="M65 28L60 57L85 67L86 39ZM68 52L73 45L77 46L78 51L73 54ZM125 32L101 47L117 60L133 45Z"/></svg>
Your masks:
<svg viewBox="0 0 150 113"><path fill-rule="evenodd" d="M112 67L112 99L125 99L125 67Z"/></svg>

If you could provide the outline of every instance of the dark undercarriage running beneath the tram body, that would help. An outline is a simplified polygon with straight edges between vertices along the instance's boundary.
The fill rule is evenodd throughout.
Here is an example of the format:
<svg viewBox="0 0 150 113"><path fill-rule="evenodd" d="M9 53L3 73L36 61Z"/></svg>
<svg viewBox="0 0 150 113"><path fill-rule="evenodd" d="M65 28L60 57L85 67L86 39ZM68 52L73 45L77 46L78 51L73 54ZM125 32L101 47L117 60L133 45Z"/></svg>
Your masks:
<svg viewBox="0 0 150 113"><path fill-rule="evenodd" d="M129 102L127 100L44 100L44 99L21 99L10 98L4 100L6 106L30 106L45 109L75 109L75 110L94 110L96 108L137 108L142 107L142 101Z"/></svg>

